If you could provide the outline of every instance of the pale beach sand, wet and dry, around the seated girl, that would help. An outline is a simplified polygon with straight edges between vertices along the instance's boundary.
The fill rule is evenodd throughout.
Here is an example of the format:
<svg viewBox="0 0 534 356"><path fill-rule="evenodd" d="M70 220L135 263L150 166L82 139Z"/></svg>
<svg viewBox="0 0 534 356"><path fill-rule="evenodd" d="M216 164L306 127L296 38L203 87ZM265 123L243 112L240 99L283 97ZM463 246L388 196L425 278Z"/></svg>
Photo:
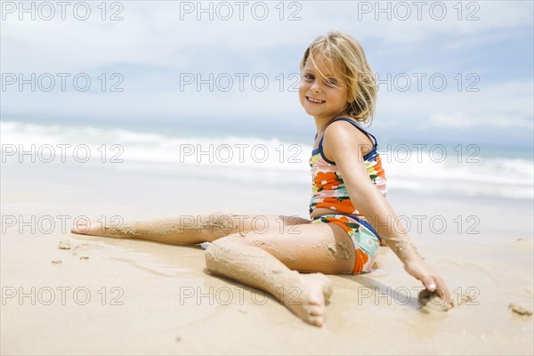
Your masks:
<svg viewBox="0 0 534 356"><path fill-rule="evenodd" d="M381 247L375 271L329 276L334 294L323 328L261 291L207 274L201 247L69 232L80 215L307 217L309 187L238 182L225 169L4 164L2 354L534 352L532 316L509 309L533 307L531 200L391 191L392 206L408 217L416 246L459 305L422 311L420 282Z"/></svg>

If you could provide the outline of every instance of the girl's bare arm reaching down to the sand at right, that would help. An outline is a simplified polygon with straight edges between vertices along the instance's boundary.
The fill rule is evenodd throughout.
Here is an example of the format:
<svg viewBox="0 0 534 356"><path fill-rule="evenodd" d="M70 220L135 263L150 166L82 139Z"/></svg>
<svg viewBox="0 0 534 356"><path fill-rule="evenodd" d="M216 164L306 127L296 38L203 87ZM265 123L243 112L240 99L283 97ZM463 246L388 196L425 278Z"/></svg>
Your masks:
<svg viewBox="0 0 534 356"><path fill-rule="evenodd" d="M352 205L368 219L387 246L401 259L404 269L410 275L421 280L428 290L436 290L442 299L449 300L449 289L443 279L426 265L425 259L419 255L407 232L396 227L398 224L393 224L397 221L397 216L369 179L362 147L370 147L369 139L351 124L341 121L328 125L323 150L328 159L336 162Z"/></svg>

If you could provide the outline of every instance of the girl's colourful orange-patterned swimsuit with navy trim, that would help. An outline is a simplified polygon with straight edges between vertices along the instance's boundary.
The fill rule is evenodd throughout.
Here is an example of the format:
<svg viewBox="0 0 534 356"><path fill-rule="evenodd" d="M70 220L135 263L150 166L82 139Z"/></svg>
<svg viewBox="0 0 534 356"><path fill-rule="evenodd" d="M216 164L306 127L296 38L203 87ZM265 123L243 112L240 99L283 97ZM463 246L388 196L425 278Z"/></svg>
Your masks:
<svg viewBox="0 0 534 356"><path fill-rule="evenodd" d="M335 121L351 123L361 132L372 137L373 148L363 157L363 160L367 167L369 178L375 184L376 189L385 196L387 191L386 179L382 162L378 155L375 136L369 134L363 127L350 118L336 118L331 123ZM362 271L370 271L371 266L375 262L378 247L382 239L370 223L358 216L360 213L352 205L341 172L339 172L335 162L325 157L322 142L323 139L321 138L319 147L312 151L312 158L310 158L310 166L312 167L310 214L312 214L314 209L319 207L336 210L339 213L315 216L312 218L312 223L334 223L340 226L352 239L356 248L356 263L352 272L356 274Z"/></svg>

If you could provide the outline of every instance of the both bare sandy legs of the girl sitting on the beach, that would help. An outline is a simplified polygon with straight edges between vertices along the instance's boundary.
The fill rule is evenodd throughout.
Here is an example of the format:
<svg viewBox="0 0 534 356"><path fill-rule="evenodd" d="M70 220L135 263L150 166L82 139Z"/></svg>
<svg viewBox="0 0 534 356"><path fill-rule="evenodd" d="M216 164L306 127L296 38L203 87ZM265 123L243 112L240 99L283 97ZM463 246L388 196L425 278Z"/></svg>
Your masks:
<svg viewBox="0 0 534 356"><path fill-rule="evenodd" d="M215 241L206 250L209 271L263 289L317 326L325 322L329 279L297 271L351 273L355 263L343 229L296 216L210 214L106 226L78 221L72 232L173 244Z"/></svg>

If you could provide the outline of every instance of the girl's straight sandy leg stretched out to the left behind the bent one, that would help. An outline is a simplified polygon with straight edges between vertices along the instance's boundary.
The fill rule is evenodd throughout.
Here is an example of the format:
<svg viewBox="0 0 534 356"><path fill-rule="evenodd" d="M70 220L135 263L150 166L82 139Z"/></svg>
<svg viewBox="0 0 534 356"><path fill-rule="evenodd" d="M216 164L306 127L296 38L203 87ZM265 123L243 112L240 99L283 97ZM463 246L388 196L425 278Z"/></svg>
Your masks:
<svg viewBox="0 0 534 356"><path fill-rule="evenodd" d="M171 244L198 244L214 241L232 233L271 231L287 225L309 223L298 216L207 214L182 215L176 218L145 222L89 223L78 220L71 232L109 238L148 239Z"/></svg>

